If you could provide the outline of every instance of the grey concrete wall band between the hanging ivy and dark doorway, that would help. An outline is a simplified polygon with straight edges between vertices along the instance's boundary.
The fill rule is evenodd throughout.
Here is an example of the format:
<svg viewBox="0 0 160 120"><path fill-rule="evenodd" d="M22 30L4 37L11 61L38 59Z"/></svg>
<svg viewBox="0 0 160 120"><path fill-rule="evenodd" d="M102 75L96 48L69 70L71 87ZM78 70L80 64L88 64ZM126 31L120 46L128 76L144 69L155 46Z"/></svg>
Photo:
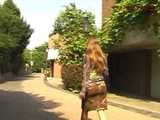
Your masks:
<svg viewBox="0 0 160 120"><path fill-rule="evenodd" d="M144 50L159 48L160 42L152 30L142 31L135 29L129 31L123 41L114 49L113 52Z"/></svg>

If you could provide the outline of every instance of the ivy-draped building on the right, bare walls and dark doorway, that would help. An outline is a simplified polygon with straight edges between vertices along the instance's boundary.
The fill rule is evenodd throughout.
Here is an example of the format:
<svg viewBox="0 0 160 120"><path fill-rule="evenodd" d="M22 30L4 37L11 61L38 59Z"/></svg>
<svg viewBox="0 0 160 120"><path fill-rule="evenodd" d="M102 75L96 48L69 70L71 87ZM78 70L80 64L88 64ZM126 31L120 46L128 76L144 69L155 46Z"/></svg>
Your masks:
<svg viewBox="0 0 160 120"><path fill-rule="evenodd" d="M102 1L102 16L109 17L115 0ZM111 89L160 98L160 44L152 32L129 32L109 54Z"/></svg>

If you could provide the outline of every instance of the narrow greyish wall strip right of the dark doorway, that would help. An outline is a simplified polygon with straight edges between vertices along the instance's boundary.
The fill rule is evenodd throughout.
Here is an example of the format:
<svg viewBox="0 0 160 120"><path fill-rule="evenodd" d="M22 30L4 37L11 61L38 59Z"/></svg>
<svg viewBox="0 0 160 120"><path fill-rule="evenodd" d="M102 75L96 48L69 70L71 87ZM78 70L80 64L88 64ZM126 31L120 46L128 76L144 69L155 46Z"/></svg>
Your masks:
<svg viewBox="0 0 160 120"><path fill-rule="evenodd" d="M160 58L156 51L152 54L151 96L160 98Z"/></svg>

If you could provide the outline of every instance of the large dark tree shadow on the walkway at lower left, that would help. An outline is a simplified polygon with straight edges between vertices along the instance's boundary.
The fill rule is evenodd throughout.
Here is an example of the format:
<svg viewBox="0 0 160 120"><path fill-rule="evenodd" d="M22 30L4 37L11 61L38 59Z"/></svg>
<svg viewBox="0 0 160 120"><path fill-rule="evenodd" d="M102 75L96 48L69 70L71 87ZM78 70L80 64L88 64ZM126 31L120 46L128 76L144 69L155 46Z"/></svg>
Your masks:
<svg viewBox="0 0 160 120"><path fill-rule="evenodd" d="M0 120L68 120L63 113L47 111L58 106L38 94L0 90Z"/></svg>

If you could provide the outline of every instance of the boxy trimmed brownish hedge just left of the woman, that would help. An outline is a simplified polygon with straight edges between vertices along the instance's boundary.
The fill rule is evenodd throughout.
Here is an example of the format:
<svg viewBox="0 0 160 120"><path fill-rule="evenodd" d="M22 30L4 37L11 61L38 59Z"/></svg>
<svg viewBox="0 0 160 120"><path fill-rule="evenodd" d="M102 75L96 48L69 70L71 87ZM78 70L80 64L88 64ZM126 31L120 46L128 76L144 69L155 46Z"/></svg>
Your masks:
<svg viewBox="0 0 160 120"><path fill-rule="evenodd" d="M83 79L82 65L63 65L61 74L65 89L78 91L81 89L81 80Z"/></svg>

